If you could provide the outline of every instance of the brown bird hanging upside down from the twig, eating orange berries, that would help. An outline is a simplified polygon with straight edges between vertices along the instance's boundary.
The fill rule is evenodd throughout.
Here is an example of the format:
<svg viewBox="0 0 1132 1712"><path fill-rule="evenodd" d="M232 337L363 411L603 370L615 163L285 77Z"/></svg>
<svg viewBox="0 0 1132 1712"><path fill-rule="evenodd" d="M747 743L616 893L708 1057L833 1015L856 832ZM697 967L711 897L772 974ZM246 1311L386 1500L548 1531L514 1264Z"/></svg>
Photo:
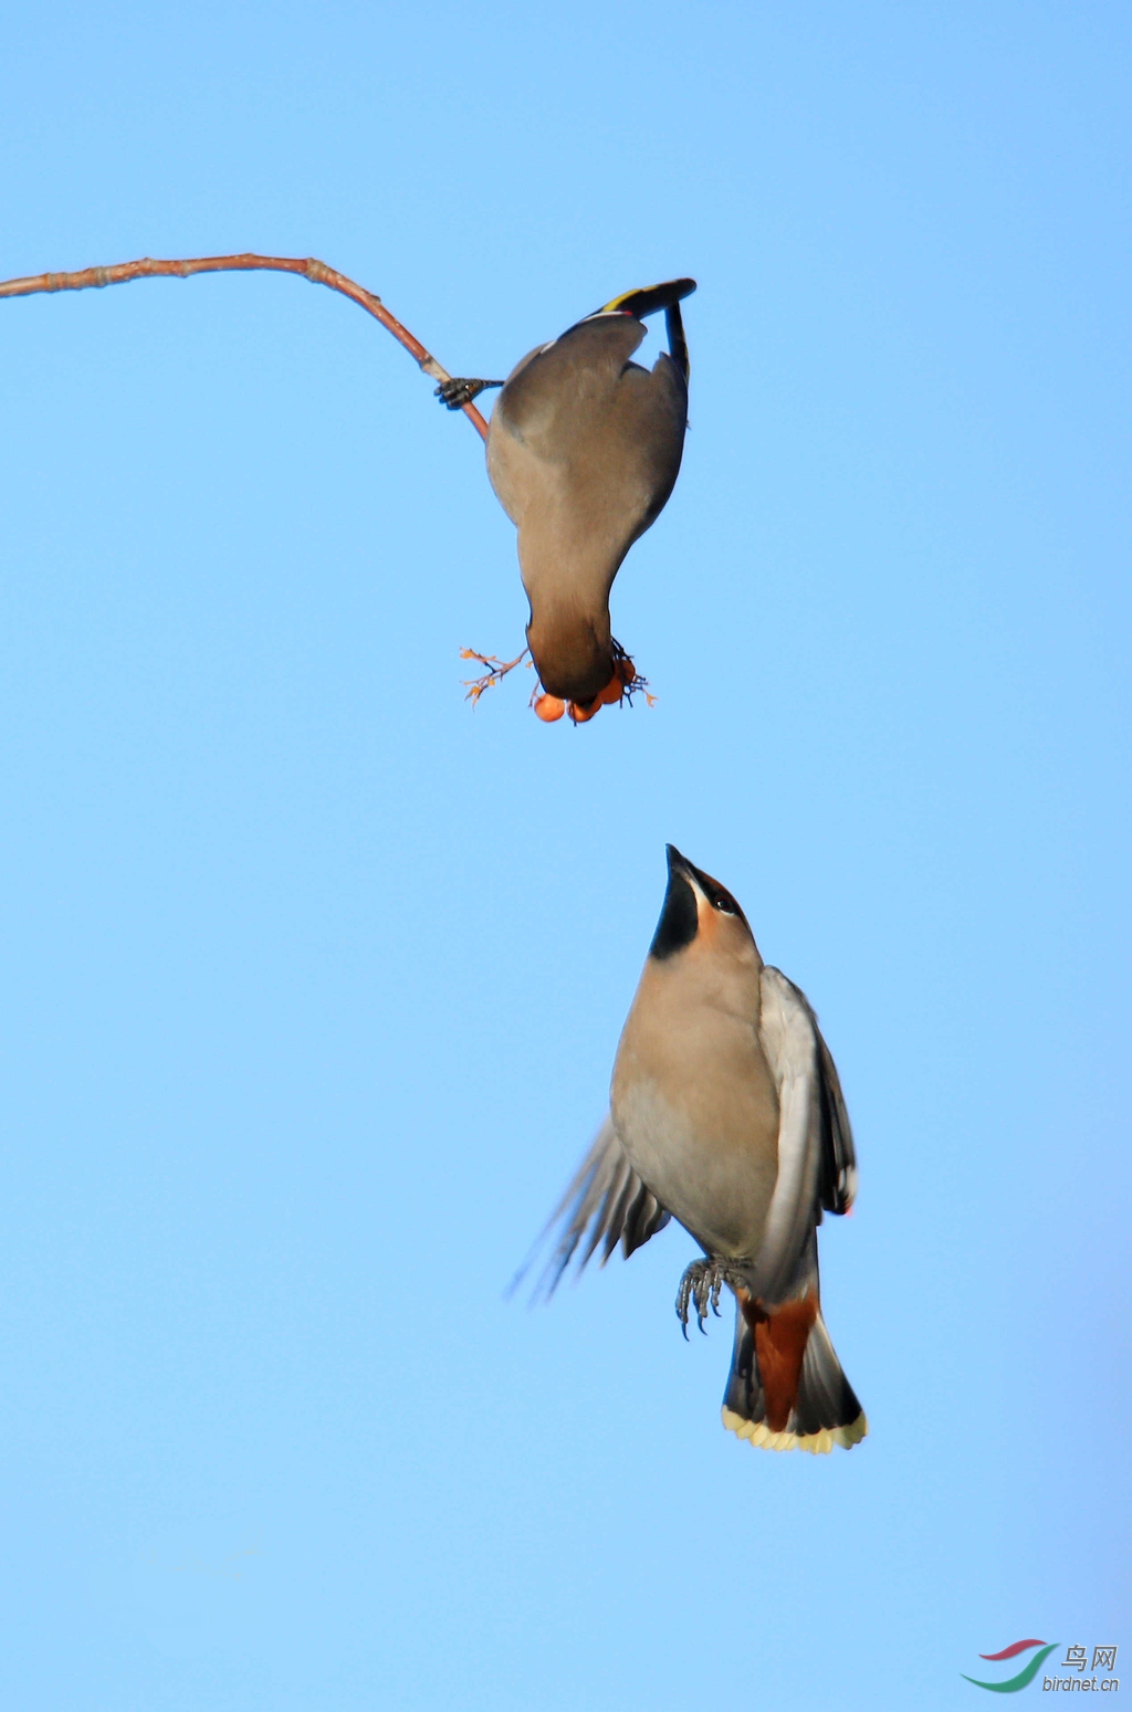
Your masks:
<svg viewBox="0 0 1132 1712"><path fill-rule="evenodd" d="M582 712L627 681L610 589L680 471L688 419L680 300L692 291L694 279L627 291L531 351L505 382L437 387L452 409L485 387L503 389L488 428L488 478L519 529L527 647L543 688ZM670 349L649 370L630 358L644 317L658 310Z"/></svg>

